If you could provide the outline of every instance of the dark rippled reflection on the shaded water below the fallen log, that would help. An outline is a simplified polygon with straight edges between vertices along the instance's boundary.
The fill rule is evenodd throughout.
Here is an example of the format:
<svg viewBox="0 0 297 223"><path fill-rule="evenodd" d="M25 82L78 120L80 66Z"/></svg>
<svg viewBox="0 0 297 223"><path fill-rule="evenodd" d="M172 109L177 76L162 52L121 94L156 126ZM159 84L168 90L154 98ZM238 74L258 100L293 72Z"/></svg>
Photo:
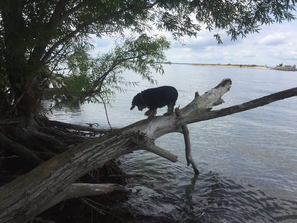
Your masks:
<svg viewBox="0 0 297 223"><path fill-rule="evenodd" d="M296 221L296 201L270 197L241 179L207 172L208 167L203 163L198 164L201 174L194 175L186 164L170 163L154 155L148 160L148 155L146 151L138 151L123 157L128 160L124 169L135 171L141 166L138 171L146 175L132 181L140 189L128 201L135 211L167 216L180 223Z"/></svg>

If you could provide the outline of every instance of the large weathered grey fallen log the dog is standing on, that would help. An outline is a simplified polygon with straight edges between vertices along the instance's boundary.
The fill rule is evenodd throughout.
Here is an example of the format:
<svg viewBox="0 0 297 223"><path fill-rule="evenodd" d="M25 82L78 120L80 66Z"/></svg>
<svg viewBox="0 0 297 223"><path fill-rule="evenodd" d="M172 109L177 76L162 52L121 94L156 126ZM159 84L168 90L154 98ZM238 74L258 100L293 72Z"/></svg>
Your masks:
<svg viewBox="0 0 297 223"><path fill-rule="evenodd" d="M297 88L292 88L241 105L210 111L212 106L223 103L221 97L228 92L230 85L231 80L224 79L205 94L201 96L196 94L195 99L181 109L182 117L157 116L140 120L77 145L1 186L0 222L29 221L42 211L65 200L76 179L102 167L113 158L134 150L149 150L149 148L154 148L155 151L151 151L155 153L164 152L162 148L154 146L154 140L170 132L181 132L182 125L223 117L297 95ZM162 154L168 158L170 153Z"/></svg>

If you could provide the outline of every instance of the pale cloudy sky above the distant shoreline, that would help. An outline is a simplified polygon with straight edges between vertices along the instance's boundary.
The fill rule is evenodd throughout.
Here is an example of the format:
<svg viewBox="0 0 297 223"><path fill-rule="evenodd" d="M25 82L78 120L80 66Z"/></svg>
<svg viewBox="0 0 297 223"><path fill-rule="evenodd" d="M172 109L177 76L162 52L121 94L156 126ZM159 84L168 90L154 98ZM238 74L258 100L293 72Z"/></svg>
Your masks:
<svg viewBox="0 0 297 223"><path fill-rule="evenodd" d="M154 31L151 34L165 34L171 41L166 56L172 63L297 65L297 21L283 21L260 29L260 33L239 37L237 41L222 33L221 45L213 37L217 31L210 33L206 29L202 29L197 38L184 37L186 46L175 42L170 33ZM103 37L95 40L94 45L97 51L106 53L114 47L114 40Z"/></svg>

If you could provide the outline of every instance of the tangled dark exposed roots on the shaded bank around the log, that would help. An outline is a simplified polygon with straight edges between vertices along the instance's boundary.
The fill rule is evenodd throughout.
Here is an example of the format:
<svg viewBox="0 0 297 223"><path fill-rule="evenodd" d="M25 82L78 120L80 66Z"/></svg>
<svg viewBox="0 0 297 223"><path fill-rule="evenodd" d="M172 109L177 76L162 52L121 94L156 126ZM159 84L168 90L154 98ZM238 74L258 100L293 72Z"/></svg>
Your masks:
<svg viewBox="0 0 297 223"><path fill-rule="evenodd" d="M11 121L9 122L9 125L0 127L0 185L4 185L21 177L23 174L29 172L44 161L71 149L75 145L94 139L91 135L96 135L95 132L81 132L81 129L84 128L78 128L78 126L76 127L80 129L80 131L73 131L63 128L62 125L53 127L44 124L42 125L42 123L43 122L38 122L39 126L37 128L31 128L30 126L24 128L18 126L18 120L15 122ZM89 128L88 130L90 129L94 128ZM102 134L102 131L100 134ZM109 177L109 174L115 175ZM110 219L113 219L113 222L119 222L119 216L116 216L113 209L110 209L114 208L114 205L111 205L111 207L102 205L99 203L100 201L96 201L94 198L114 193L128 193L129 189L127 187L112 182L118 183L119 178L131 177L140 177L140 175L125 175L114 161L109 161L102 168L94 169L72 184L65 199L78 197L85 207L92 209L94 213L100 213L100 215L105 216L105 219L109 219L106 220L106 222L110 221ZM88 199L85 196L96 197ZM56 219L56 213L62 211L64 204L65 202L63 202L61 208L53 207L50 210L41 213L38 215L39 217L33 218L30 222L61 222L60 219L57 221L53 221L53 219ZM60 205L61 204L58 204L56 206ZM49 211L51 212L50 217L46 217ZM102 216L100 219L102 219ZM69 222L71 222L70 219ZM102 222L104 222L103 219Z"/></svg>

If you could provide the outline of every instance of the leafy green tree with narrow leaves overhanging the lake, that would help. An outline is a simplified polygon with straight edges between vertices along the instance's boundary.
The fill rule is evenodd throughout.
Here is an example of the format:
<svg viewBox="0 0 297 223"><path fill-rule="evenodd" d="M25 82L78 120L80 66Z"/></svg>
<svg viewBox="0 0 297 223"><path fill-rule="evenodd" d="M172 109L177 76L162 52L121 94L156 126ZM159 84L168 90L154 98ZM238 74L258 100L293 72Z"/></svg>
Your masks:
<svg viewBox="0 0 297 223"><path fill-rule="evenodd" d="M293 1L0 1L0 114L34 118L42 98L65 95L81 102L113 98L133 70L151 83L163 73L164 36L196 37L202 28L225 30L231 40L258 32L259 25L295 19ZM194 19L195 18L195 19ZM126 36L126 33L133 35ZM94 38L117 37L116 47L93 57ZM220 35L214 37L222 43ZM63 74L63 69L69 72ZM60 80L60 89L48 82Z"/></svg>

